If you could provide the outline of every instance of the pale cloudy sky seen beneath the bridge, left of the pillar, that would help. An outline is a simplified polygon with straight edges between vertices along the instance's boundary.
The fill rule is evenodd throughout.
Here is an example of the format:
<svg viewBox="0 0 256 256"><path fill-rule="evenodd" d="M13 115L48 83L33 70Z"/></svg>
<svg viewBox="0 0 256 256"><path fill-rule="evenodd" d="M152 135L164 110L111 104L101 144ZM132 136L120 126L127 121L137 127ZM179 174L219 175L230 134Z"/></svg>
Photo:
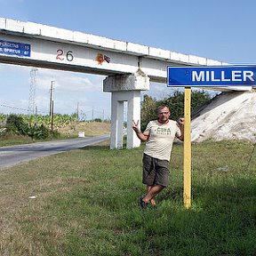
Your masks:
<svg viewBox="0 0 256 256"><path fill-rule="evenodd" d="M0 65L0 113L27 114L31 92L31 67ZM92 109L110 116L110 93L102 92L105 76L37 68L35 105L38 113L47 115L50 108L50 88L53 83L54 112L73 114L77 104L82 112L92 113ZM31 103L31 102L30 102ZM1 106L2 105L2 106ZM4 105L4 106L3 106ZM8 107L5 107L8 106ZM9 108L9 106L11 108Z"/></svg>

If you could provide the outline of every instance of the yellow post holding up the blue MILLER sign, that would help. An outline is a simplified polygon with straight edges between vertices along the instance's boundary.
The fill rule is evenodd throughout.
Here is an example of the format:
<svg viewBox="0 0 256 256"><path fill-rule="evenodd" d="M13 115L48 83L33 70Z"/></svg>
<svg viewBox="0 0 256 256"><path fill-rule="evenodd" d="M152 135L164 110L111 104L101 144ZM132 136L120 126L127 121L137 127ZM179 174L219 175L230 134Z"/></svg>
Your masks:
<svg viewBox="0 0 256 256"><path fill-rule="evenodd" d="M184 153L183 153L183 168L184 168L184 190L183 198L184 205L188 209L191 206L191 88L185 87L184 98Z"/></svg>

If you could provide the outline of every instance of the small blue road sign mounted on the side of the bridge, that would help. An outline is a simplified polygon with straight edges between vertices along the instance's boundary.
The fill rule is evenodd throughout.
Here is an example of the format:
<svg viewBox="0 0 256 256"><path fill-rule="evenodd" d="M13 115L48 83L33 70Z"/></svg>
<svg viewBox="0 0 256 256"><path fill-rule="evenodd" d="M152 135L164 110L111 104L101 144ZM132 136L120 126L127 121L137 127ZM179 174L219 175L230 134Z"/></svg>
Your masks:
<svg viewBox="0 0 256 256"><path fill-rule="evenodd" d="M0 54L30 57L30 44L0 40Z"/></svg>

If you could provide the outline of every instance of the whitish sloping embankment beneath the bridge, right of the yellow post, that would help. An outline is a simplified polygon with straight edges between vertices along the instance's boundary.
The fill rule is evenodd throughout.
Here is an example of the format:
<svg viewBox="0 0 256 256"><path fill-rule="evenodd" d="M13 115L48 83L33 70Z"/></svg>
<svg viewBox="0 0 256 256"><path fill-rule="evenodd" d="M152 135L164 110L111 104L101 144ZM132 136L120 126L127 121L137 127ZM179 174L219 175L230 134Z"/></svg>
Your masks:
<svg viewBox="0 0 256 256"><path fill-rule="evenodd" d="M191 121L191 140L256 142L256 92L222 92Z"/></svg>

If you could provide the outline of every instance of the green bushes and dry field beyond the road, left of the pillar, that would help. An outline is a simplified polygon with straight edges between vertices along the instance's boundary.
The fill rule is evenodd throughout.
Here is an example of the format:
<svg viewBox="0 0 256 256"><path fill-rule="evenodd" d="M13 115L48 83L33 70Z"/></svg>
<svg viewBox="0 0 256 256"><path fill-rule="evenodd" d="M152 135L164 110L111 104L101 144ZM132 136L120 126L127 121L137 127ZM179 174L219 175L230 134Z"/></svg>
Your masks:
<svg viewBox="0 0 256 256"><path fill-rule="evenodd" d="M97 136L110 132L108 121L99 118L77 121L76 115L54 114L50 116L4 115L0 114L0 147L27 144L44 140L72 139L78 132L86 136Z"/></svg>

